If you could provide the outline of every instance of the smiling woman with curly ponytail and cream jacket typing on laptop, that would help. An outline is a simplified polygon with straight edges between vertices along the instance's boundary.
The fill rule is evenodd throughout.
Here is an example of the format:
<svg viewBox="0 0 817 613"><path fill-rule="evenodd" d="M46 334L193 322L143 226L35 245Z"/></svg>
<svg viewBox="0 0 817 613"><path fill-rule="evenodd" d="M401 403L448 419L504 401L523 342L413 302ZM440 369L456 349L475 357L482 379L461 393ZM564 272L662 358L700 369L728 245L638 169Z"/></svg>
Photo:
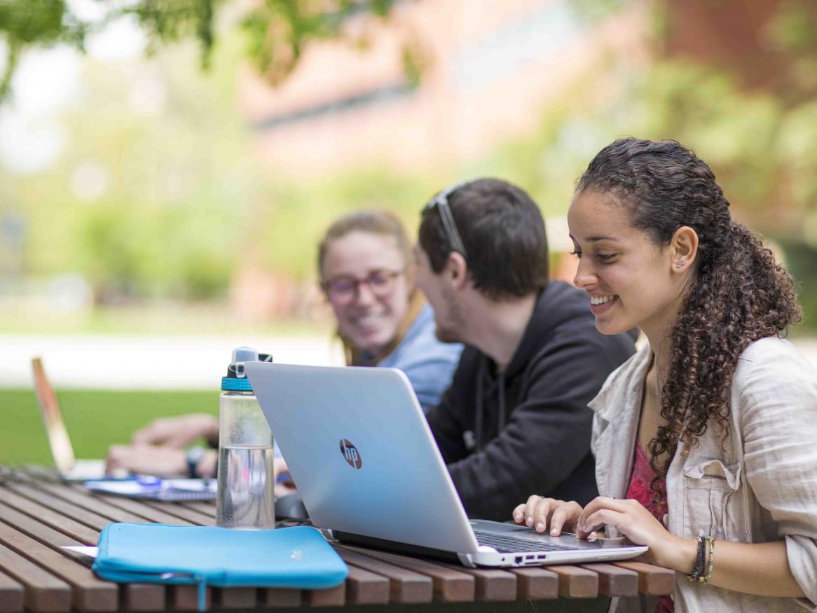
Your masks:
<svg viewBox="0 0 817 613"><path fill-rule="evenodd" d="M783 338L791 278L675 141L605 147L568 221L596 327L649 344L591 403L602 495L531 496L514 519L606 527L677 571L674 601L618 611L817 610L817 372Z"/></svg>

